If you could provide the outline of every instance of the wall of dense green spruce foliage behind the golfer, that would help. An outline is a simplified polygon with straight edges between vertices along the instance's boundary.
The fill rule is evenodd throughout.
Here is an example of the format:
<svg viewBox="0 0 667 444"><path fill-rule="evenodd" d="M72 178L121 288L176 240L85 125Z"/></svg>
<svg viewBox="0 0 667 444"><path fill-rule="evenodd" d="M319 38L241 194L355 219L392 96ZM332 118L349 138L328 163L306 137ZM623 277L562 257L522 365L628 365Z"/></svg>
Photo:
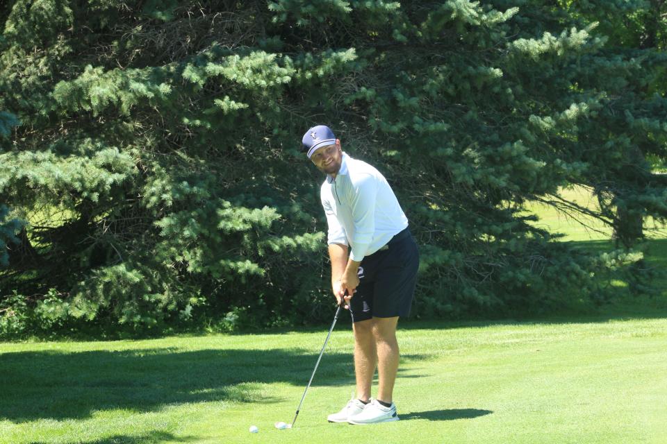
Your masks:
<svg viewBox="0 0 667 444"><path fill-rule="evenodd" d="M520 212L527 199L583 211L556 197L577 183L616 228L667 216L644 160L667 157L665 33L609 45L647 1L548 3L0 6L0 110L18 118L0 124L0 203L25 223L0 275L3 322L327 317L322 178L299 151L315 123L397 192L422 253L417 314L604 298L604 277L641 255L584 253ZM16 323L25 313L33 324Z"/></svg>

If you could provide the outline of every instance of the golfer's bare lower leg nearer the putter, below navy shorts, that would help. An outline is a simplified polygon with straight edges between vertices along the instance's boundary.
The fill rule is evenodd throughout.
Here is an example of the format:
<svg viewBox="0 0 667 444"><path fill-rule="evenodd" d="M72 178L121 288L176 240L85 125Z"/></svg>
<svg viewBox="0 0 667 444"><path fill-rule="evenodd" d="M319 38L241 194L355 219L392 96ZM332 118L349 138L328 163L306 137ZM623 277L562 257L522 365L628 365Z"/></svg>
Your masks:
<svg viewBox="0 0 667 444"><path fill-rule="evenodd" d="M363 402L370 400L370 385L377 365L377 350L374 338L374 319L352 324L354 330L354 374L356 396Z"/></svg>

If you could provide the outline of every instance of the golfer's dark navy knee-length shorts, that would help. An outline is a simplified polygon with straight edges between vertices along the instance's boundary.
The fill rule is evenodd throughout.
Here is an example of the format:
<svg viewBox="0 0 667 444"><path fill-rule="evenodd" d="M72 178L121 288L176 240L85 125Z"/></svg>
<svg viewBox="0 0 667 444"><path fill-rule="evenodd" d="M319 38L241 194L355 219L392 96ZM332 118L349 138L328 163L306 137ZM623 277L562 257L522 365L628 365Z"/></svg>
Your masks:
<svg viewBox="0 0 667 444"><path fill-rule="evenodd" d="M396 234L359 265L359 287L349 300L352 322L408 316L417 284L419 251L410 230Z"/></svg>

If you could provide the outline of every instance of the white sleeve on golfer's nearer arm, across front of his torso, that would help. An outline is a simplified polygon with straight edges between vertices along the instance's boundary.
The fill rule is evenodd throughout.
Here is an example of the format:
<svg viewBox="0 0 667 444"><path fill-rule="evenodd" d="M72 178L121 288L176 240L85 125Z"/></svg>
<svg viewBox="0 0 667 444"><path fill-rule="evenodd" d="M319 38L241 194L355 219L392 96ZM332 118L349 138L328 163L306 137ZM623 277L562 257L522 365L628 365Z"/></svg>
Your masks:
<svg viewBox="0 0 667 444"><path fill-rule="evenodd" d="M377 180L371 174L364 174L354 184L352 192L352 218L354 237L349 258L356 262L366 255L375 232L375 201L377 200Z"/></svg>

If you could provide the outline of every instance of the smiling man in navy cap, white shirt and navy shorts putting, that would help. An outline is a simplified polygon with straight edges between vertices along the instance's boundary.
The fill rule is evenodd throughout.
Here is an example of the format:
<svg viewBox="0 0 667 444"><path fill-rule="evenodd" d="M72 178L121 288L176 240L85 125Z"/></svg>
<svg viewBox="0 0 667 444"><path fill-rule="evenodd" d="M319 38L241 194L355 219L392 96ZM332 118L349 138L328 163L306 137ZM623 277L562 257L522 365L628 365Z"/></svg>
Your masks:
<svg viewBox="0 0 667 444"><path fill-rule="evenodd" d="M399 361L396 325L400 316L410 314L417 246L377 169L343 153L327 126L309 129L302 142L311 162L327 174L320 196L329 225L331 288L338 304L349 309L354 331L356 398L327 419L351 424L398 420L392 398ZM376 367L379 384L372 399Z"/></svg>

